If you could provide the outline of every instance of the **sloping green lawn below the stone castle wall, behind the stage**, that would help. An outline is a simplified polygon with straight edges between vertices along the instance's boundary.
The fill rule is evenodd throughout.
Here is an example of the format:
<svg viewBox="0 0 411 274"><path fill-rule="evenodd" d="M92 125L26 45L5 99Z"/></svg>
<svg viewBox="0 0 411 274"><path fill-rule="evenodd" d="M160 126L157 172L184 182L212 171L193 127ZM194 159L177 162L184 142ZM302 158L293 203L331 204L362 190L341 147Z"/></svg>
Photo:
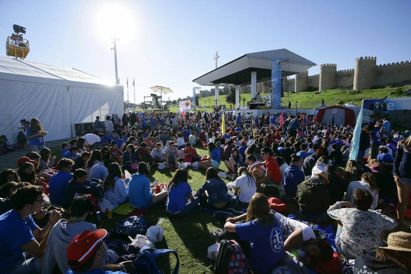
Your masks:
<svg viewBox="0 0 411 274"><path fill-rule="evenodd" d="M375 98L398 98L398 97L409 97L402 95L401 92L403 90L408 89L409 87L392 87L392 88L379 88L379 89L366 89L360 90L359 94L354 95L354 103L358 106L361 106L362 99L375 99ZM389 95L390 92L396 92L397 94ZM320 94L314 94L315 92L302 92L302 93L285 93L283 97L283 103L285 106L288 106L288 100L291 101L292 105L291 108L295 108L295 101L298 102L298 108L300 108L300 103L302 108L316 108L321 105L321 99L324 99L324 102L327 103L328 106L334 105L335 103L339 103L343 101L344 104L352 103L352 90L343 90L343 89L330 89L324 90L320 92ZM270 95L270 93L261 94L263 96ZM311 98L311 106L310 100L307 96ZM242 105L242 98L246 98L246 104L251 99L251 93L240 94L241 100L240 105ZM215 104L215 97L208 96L199 99L200 106L213 106ZM230 108L230 104L226 102L226 95L220 95L219 101L221 105L226 105L226 109ZM178 111L177 106L172 106L170 108L171 112ZM213 108L200 108L201 111L213 111ZM139 109L140 110L140 109Z"/></svg>

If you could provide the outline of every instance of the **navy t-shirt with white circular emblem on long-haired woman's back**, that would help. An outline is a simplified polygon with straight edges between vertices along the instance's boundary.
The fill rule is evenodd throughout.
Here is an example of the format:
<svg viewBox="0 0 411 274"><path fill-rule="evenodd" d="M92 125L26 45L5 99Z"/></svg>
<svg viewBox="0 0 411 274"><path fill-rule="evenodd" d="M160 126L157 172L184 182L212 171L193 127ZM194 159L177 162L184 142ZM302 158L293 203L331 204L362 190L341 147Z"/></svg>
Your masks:
<svg viewBox="0 0 411 274"><path fill-rule="evenodd" d="M235 225L241 241L251 242L250 265L254 273L269 274L284 254L281 228L273 219L271 224L255 221Z"/></svg>

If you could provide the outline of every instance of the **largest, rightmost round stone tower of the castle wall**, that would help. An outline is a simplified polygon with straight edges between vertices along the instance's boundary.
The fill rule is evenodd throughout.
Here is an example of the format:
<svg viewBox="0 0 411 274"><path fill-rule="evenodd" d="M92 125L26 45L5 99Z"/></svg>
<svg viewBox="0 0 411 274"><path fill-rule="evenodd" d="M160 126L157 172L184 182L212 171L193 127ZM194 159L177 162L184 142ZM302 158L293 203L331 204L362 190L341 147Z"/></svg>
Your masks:
<svg viewBox="0 0 411 274"><path fill-rule="evenodd" d="M354 90L368 89L375 85L377 57L356 58Z"/></svg>

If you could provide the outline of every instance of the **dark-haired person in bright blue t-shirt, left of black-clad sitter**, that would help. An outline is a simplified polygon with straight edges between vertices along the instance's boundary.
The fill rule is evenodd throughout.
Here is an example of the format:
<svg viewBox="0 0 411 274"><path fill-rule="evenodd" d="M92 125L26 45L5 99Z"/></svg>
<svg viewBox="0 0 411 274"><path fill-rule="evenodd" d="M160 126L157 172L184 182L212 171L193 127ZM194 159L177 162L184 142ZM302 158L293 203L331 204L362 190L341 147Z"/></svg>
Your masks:
<svg viewBox="0 0 411 274"><path fill-rule="evenodd" d="M70 173L71 167L74 165L74 161L71 159L63 158L57 163L59 171L50 177L48 191L50 193L51 204L57 204L64 206L66 200L64 192L68 182L73 178L73 174Z"/></svg>

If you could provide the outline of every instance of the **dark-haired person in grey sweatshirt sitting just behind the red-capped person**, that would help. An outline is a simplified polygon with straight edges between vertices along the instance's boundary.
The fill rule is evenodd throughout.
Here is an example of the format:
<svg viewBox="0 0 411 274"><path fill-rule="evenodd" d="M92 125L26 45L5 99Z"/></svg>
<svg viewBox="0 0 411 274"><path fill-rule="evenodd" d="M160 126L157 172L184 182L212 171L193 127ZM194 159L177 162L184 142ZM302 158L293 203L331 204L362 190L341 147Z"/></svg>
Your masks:
<svg viewBox="0 0 411 274"><path fill-rule="evenodd" d="M54 264L65 273L70 266L67 264L67 247L73 238L83 231L95 231L96 225L85 221L87 216L94 211L94 205L90 197L80 195L74 197L70 204L70 218L61 219L50 231L46 252L43 260L43 273L52 273ZM105 245L103 243L103 245ZM114 264L118 259L115 251L107 249L104 255L103 265Z"/></svg>

